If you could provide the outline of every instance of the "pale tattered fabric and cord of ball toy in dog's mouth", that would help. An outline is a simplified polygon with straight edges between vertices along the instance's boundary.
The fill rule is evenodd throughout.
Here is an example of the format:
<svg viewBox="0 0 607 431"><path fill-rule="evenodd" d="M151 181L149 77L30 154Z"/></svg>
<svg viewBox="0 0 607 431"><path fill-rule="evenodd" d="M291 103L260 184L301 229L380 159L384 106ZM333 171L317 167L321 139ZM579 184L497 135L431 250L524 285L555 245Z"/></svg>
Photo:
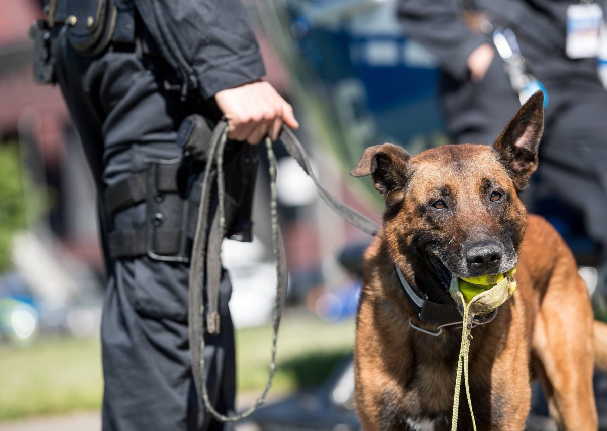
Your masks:
<svg viewBox="0 0 607 431"><path fill-rule="evenodd" d="M514 293L517 287L517 282L514 280L514 274L517 269L514 268L507 272L504 278L495 284L490 289L484 290L469 298L467 287L469 283L462 283L461 279L453 276L449 287L449 293L455 302L464 309L464 319L461 332L461 347L459 347L457 375L455 378L455 394L453 395L453 413L451 417L451 431L457 430L457 420L459 412L459 393L461 391L461 376L464 375L464 386L466 387L466 398L468 399L468 407L470 407L470 416L472 416L472 427L476 431L476 419L472 410L472 397L470 396L470 385L468 383L468 356L470 353L470 342L472 342L472 325L475 315L485 315L497 309Z"/></svg>

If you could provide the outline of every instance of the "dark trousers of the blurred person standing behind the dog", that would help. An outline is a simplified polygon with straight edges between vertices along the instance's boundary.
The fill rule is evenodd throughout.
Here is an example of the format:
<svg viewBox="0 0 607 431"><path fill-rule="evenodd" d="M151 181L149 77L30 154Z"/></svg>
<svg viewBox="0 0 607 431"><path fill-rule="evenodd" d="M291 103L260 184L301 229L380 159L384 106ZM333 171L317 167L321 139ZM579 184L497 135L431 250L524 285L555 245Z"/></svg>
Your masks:
<svg viewBox="0 0 607 431"><path fill-rule="evenodd" d="M602 247L598 287L607 293L607 91L598 75L538 78L549 105L535 175L547 191L583 213L588 235ZM497 53L480 82L444 74L441 99L455 143L492 144L520 107ZM523 193L531 210L533 198Z"/></svg>

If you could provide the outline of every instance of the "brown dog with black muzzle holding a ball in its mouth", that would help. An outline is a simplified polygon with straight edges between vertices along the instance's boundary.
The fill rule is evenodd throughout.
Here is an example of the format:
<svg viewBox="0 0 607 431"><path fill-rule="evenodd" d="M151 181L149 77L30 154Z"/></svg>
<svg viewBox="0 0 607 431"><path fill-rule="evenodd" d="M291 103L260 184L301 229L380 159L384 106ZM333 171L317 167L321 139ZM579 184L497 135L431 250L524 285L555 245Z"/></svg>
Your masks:
<svg viewBox="0 0 607 431"><path fill-rule="evenodd" d="M364 256L356 321L356 411L364 430L451 427L461 325L439 333L405 298L396 269L429 301L452 304L449 279L506 273L517 290L472 330L470 391L479 430L523 430L539 379L561 429L597 429L595 364L607 361L571 251L518 197L537 167L543 93L489 145L444 145L410 156L365 150L353 176L371 175L385 199L382 229ZM461 309L460 309L461 312ZM461 322L461 321L460 321ZM418 329L416 329L415 327ZM451 329L449 329L451 328ZM458 429L472 429L462 390Z"/></svg>

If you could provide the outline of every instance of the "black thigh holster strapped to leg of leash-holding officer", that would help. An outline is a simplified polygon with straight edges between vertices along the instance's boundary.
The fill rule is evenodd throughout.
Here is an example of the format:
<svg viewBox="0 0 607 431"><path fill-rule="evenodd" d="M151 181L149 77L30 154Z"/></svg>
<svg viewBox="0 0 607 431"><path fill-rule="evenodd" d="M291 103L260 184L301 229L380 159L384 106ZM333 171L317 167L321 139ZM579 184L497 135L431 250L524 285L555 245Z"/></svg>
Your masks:
<svg viewBox="0 0 607 431"><path fill-rule="evenodd" d="M109 250L112 258L149 257L171 262L188 262L194 239L202 178L206 165L201 148L208 145L211 129L206 119L191 115L181 124L177 144L184 156L178 161L158 161L104 191L109 219L135 205L145 205L145 226L112 229ZM252 241L251 212L259 164L257 147L230 142L224 153L226 194L226 238ZM210 173L216 181L215 167ZM212 187L215 190L216 187ZM214 213L217 196L211 198Z"/></svg>

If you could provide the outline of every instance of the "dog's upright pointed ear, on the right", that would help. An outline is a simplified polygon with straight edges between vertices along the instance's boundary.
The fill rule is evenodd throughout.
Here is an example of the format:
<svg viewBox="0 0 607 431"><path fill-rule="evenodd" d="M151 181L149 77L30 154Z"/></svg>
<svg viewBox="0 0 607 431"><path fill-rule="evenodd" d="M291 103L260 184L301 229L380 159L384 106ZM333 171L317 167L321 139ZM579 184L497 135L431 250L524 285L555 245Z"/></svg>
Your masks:
<svg viewBox="0 0 607 431"><path fill-rule="evenodd" d="M529 177L537 169L537 150L544 131L544 93L532 95L512 117L493 143L512 172L518 192L527 188Z"/></svg>

